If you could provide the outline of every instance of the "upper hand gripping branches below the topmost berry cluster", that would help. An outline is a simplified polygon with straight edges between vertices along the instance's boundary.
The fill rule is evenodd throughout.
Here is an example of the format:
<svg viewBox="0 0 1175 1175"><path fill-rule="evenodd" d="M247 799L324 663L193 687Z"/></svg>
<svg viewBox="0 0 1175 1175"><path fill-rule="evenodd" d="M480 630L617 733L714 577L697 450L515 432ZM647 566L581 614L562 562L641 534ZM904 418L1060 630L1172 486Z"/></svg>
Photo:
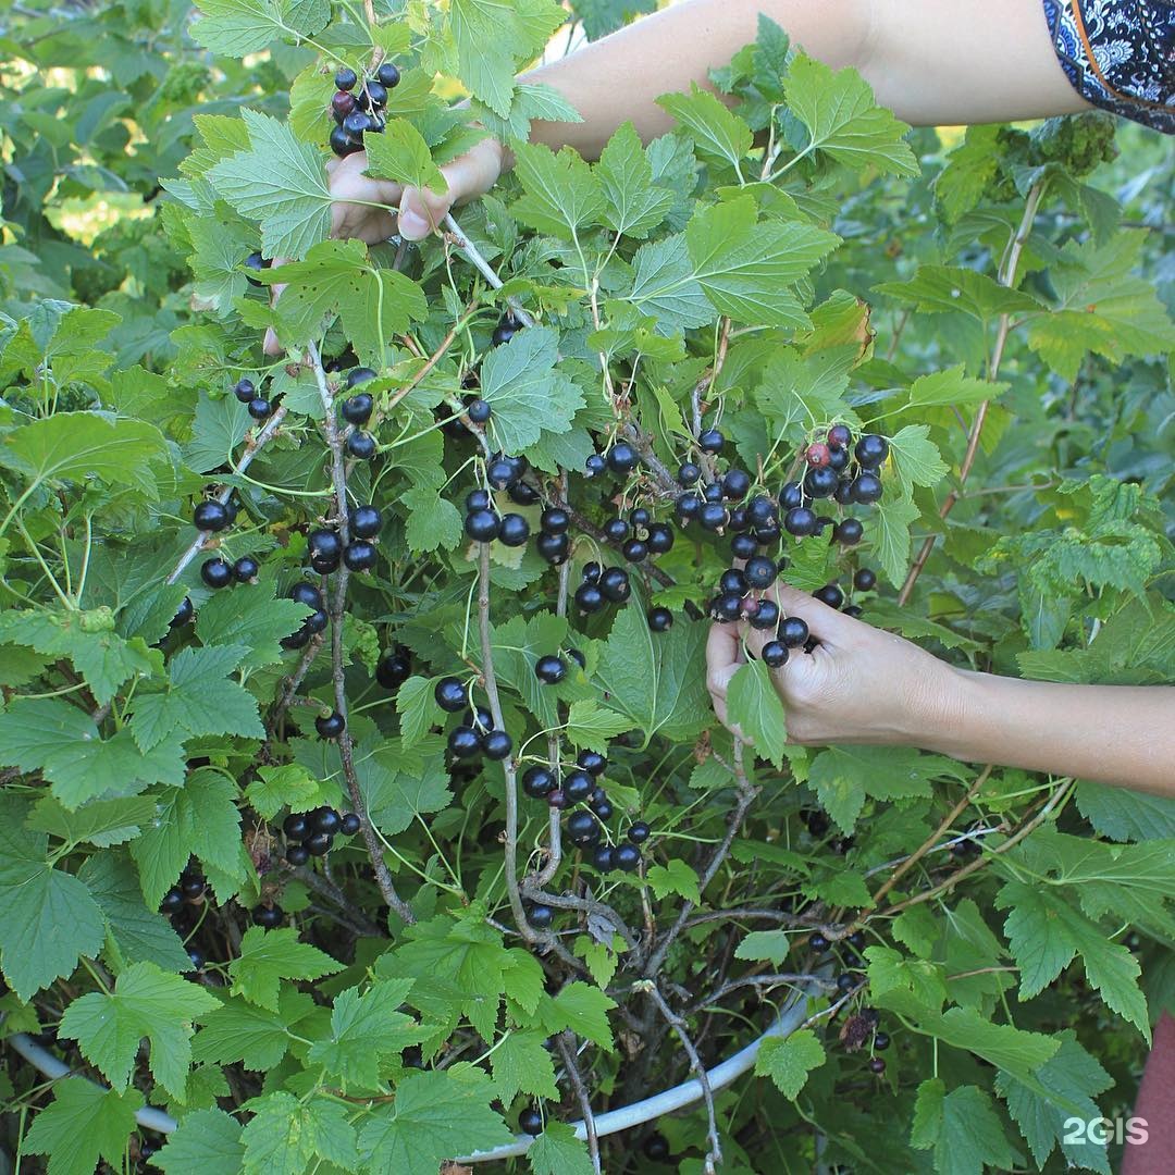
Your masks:
<svg viewBox="0 0 1175 1175"><path fill-rule="evenodd" d="M364 175L367 152L331 160L327 164L328 186L334 197L330 235L376 244L398 231L407 241L419 241L436 230L454 204L489 192L502 174L504 159L505 149L496 139L483 139L441 168L449 186L441 195L428 188L408 188ZM275 257L274 267L282 266L284 260ZM284 288L281 283L271 287L275 303ZM282 351L277 335L267 330L266 354L281 355Z"/></svg>

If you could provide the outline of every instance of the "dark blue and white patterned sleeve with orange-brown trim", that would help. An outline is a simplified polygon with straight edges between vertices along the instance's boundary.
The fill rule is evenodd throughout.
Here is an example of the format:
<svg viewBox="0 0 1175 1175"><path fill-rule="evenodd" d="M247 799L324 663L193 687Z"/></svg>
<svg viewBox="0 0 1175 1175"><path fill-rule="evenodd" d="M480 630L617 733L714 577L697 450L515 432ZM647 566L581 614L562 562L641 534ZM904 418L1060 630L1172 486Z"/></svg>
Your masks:
<svg viewBox="0 0 1175 1175"><path fill-rule="evenodd" d="M1175 2L1045 0L1053 48L1094 106L1175 134Z"/></svg>

